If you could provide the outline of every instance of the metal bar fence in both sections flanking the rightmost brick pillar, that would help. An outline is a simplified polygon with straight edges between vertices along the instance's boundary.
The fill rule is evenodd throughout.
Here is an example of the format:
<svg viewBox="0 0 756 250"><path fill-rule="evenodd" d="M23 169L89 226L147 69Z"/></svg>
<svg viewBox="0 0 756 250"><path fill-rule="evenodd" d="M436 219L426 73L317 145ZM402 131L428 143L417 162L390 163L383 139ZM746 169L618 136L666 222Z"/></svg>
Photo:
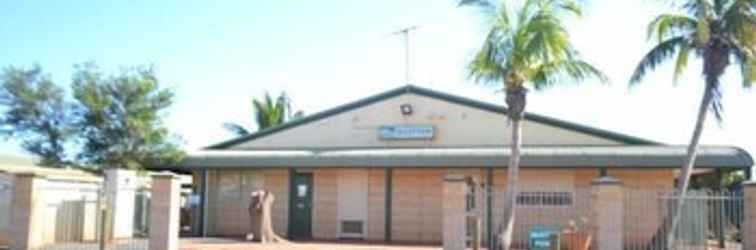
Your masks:
<svg viewBox="0 0 756 250"><path fill-rule="evenodd" d="M596 249L591 188L522 188L517 196L514 249ZM503 217L504 191L494 192L494 232ZM677 194L670 189L623 188L626 250L742 249L740 191L691 190L671 231ZM667 247L668 246L668 247Z"/></svg>

